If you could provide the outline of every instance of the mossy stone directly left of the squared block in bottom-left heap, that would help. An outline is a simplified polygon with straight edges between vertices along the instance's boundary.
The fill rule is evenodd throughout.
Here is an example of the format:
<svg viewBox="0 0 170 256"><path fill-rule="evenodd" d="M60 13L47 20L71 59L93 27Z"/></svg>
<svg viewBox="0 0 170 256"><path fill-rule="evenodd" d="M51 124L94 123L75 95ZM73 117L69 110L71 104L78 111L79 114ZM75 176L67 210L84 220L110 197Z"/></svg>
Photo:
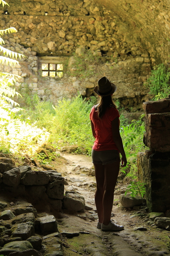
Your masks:
<svg viewBox="0 0 170 256"><path fill-rule="evenodd" d="M11 231L11 237L21 237L23 240L35 235L33 222L15 224Z"/></svg>

